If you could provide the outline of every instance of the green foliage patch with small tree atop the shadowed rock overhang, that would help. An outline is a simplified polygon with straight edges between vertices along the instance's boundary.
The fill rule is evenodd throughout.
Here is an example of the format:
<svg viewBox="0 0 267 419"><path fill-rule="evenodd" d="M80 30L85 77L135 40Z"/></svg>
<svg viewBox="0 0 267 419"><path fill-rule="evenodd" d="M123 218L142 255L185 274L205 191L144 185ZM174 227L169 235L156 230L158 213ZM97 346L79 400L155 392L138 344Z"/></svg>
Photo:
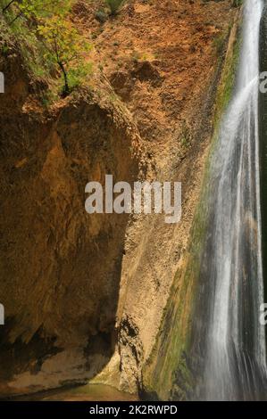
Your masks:
<svg viewBox="0 0 267 419"><path fill-rule="evenodd" d="M91 73L87 60L91 45L71 21L73 0L2 0L0 4L34 75L46 82L61 75L63 96L82 84Z"/></svg>

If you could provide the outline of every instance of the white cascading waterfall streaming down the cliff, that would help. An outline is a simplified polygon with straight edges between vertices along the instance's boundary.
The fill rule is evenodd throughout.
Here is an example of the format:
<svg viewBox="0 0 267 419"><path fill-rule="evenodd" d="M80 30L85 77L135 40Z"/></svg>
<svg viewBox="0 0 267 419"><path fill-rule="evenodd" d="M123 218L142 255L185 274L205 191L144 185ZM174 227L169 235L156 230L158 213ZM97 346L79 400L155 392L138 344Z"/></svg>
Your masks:
<svg viewBox="0 0 267 419"><path fill-rule="evenodd" d="M237 86L211 163L213 204L201 267L202 319L198 320L203 377L197 398L201 399L264 397L258 134L262 13L262 0L246 0Z"/></svg>

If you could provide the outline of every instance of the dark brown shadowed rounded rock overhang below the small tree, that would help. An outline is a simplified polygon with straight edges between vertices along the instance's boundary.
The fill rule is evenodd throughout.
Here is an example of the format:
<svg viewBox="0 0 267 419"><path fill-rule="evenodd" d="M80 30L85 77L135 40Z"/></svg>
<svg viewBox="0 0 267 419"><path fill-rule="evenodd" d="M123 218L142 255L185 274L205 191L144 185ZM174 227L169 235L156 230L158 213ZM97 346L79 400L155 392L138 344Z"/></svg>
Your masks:
<svg viewBox="0 0 267 419"><path fill-rule="evenodd" d="M25 371L19 391L38 390L89 378L113 353L128 218L88 216L85 185L137 179L139 137L104 79L100 97L83 92L48 114L30 102L18 52L1 70L2 391Z"/></svg>

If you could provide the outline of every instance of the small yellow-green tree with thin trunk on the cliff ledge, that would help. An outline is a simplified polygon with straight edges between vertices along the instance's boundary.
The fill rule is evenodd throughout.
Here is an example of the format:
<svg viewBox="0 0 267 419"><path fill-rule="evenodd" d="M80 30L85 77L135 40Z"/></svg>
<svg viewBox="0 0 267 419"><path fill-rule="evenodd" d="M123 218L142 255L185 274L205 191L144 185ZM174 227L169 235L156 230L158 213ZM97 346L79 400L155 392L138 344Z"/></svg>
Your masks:
<svg viewBox="0 0 267 419"><path fill-rule="evenodd" d="M53 15L45 19L43 24L38 25L38 33L44 39L47 58L56 62L63 74L63 96L66 96L70 94L68 69L71 63L84 60L91 45L80 36L71 21L61 15Z"/></svg>

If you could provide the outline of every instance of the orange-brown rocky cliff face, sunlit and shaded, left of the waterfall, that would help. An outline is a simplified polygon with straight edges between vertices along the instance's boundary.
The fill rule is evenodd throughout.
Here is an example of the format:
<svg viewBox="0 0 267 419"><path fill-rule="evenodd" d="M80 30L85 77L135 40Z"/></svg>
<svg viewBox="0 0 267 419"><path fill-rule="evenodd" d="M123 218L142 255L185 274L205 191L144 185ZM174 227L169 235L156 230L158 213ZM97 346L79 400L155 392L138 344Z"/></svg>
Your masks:
<svg viewBox="0 0 267 419"><path fill-rule="evenodd" d="M100 4L73 11L96 39L95 66L104 63L93 89L44 110L19 46L1 57L2 395L92 378L141 390L185 264L235 11L229 1L137 0L103 25ZM182 222L88 216L85 185L109 173L181 181Z"/></svg>

